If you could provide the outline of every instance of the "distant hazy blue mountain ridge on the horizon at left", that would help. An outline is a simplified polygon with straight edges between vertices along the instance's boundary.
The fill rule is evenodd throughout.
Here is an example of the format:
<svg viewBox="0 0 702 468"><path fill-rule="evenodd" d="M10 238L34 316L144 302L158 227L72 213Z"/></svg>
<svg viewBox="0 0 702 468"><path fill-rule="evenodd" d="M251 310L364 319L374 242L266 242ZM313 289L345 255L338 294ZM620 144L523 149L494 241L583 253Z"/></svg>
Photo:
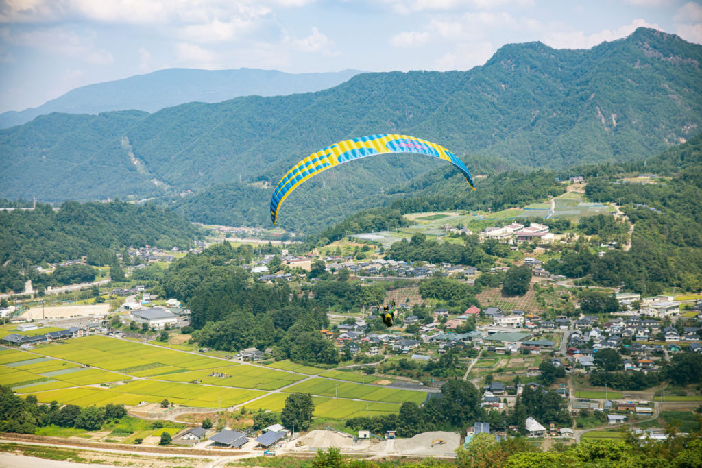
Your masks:
<svg viewBox="0 0 702 468"><path fill-rule="evenodd" d="M3 112L0 114L0 128L21 125L52 112L99 114L126 109L156 112L185 102L221 102L237 96L309 93L331 88L359 73L358 70L292 74L252 68L163 69L81 86L39 107Z"/></svg>

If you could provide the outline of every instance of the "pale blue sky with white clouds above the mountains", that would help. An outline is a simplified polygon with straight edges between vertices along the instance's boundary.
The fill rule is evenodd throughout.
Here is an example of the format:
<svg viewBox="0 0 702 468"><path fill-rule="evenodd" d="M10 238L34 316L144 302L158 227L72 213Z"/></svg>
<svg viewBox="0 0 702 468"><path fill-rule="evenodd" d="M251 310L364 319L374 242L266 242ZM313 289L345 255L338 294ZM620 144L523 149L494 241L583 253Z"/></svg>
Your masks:
<svg viewBox="0 0 702 468"><path fill-rule="evenodd" d="M163 68L470 69L639 26L702 44L702 0L0 0L0 112Z"/></svg>

